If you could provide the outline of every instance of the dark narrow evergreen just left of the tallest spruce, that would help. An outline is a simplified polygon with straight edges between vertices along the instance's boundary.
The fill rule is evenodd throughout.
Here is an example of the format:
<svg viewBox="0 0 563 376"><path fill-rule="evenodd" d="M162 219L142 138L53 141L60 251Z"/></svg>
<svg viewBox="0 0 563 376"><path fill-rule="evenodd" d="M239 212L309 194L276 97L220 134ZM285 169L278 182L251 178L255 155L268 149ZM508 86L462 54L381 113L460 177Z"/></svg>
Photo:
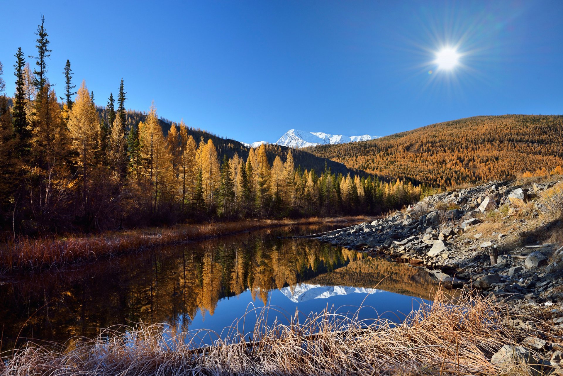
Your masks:
<svg viewBox="0 0 563 376"><path fill-rule="evenodd" d="M25 154L28 150L28 140L30 135L28 128L28 118L25 111L25 82L24 82L24 66L25 59L21 47L16 52L16 64L14 68L16 71L16 92L14 94L14 106L12 106L12 118L14 119L14 132L19 136L19 154ZM29 150L28 150L29 152Z"/></svg>

